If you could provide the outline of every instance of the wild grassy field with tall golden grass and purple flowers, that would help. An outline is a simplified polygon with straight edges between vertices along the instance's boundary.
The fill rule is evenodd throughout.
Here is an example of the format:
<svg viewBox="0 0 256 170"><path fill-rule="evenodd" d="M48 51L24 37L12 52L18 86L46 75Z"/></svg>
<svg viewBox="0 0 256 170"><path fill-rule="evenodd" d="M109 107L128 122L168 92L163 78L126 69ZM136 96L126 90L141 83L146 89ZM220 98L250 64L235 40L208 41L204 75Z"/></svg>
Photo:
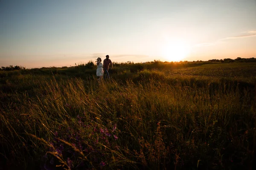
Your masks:
<svg viewBox="0 0 256 170"><path fill-rule="evenodd" d="M256 167L256 62L0 71L0 170Z"/></svg>

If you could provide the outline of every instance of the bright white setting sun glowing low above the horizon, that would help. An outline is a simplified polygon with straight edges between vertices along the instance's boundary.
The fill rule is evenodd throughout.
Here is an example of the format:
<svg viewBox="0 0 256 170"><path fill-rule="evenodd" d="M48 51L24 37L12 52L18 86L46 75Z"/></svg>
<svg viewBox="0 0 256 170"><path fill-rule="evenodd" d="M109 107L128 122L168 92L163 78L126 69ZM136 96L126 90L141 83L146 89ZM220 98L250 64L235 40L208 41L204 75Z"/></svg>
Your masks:
<svg viewBox="0 0 256 170"><path fill-rule="evenodd" d="M181 61L190 53L190 46L184 41L173 40L163 45L162 55L168 61Z"/></svg>

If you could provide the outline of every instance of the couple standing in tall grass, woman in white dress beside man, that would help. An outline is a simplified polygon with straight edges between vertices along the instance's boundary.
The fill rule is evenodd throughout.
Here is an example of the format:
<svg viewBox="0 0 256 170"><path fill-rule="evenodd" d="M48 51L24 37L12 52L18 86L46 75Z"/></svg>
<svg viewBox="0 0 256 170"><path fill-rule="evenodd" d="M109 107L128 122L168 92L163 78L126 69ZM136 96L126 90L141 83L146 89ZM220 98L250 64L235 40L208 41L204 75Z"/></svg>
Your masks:
<svg viewBox="0 0 256 170"><path fill-rule="evenodd" d="M97 71L96 71L96 75L97 75L97 77L99 77L99 80L102 79L102 77L104 75L104 71L105 71L105 74L107 74L107 75L105 75L105 77L108 76L108 78L110 78L109 77L109 73L108 73L109 65L111 65L111 68L113 67L112 62L109 59L108 55L106 55L106 59L104 59L103 65L102 65L102 59L100 57L97 58ZM103 69L104 69L104 71L103 71Z"/></svg>

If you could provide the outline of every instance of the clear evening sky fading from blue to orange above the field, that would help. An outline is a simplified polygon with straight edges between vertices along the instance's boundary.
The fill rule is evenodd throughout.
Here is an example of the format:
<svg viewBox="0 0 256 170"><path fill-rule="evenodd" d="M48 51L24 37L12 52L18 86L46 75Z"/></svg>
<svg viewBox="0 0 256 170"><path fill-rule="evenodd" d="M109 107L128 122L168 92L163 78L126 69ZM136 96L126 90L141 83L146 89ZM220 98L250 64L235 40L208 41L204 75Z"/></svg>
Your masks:
<svg viewBox="0 0 256 170"><path fill-rule="evenodd" d="M0 0L0 67L256 57L256 0Z"/></svg>

